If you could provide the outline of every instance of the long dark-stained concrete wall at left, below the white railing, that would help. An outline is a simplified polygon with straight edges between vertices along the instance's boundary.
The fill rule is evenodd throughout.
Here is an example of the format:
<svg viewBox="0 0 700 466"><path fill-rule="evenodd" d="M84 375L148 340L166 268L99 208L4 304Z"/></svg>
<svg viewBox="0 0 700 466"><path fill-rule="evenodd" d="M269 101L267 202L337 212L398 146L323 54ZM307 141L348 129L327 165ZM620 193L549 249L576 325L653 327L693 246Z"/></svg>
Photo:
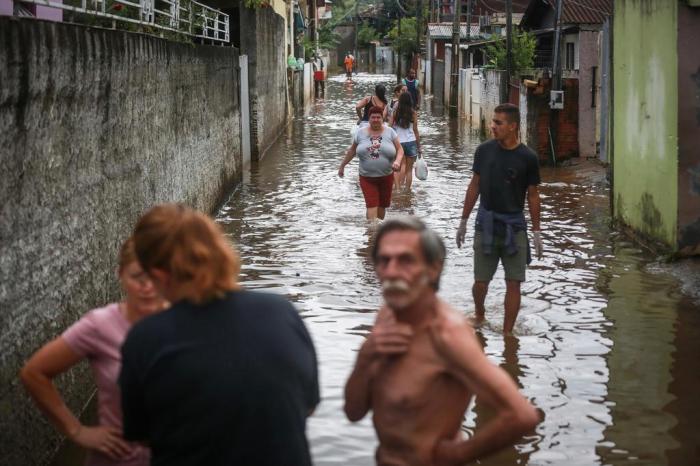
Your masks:
<svg viewBox="0 0 700 466"><path fill-rule="evenodd" d="M0 18L0 458L44 464L60 439L17 372L118 299L116 253L154 203L213 210L240 173L234 48ZM85 366L59 380L80 413Z"/></svg>

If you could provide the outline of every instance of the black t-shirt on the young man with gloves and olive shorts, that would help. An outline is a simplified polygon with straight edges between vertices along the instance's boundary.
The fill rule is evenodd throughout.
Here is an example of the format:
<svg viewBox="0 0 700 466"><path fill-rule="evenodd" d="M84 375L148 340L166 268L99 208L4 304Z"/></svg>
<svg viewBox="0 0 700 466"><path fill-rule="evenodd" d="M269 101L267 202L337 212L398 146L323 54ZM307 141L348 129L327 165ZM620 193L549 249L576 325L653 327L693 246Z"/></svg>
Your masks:
<svg viewBox="0 0 700 466"><path fill-rule="evenodd" d="M537 155L525 144L508 150L495 139L486 141L474 153L472 171L479 175L484 207L501 214L522 212L528 186L540 183Z"/></svg>

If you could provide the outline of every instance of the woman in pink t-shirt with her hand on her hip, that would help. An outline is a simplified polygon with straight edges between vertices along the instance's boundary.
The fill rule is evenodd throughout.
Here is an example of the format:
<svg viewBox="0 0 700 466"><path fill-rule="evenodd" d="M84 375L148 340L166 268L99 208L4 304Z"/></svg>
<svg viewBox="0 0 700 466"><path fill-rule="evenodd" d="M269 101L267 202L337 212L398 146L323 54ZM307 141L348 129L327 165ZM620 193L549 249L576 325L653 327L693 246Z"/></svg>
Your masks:
<svg viewBox="0 0 700 466"><path fill-rule="evenodd" d="M131 326L158 312L166 302L136 258L128 239L119 254L122 302L93 309L60 337L44 345L24 365L20 378L39 408L56 428L88 450L89 466L146 466L147 448L122 438L121 394L117 378L121 346ZM97 426L85 426L68 409L52 379L87 358L97 385Z"/></svg>

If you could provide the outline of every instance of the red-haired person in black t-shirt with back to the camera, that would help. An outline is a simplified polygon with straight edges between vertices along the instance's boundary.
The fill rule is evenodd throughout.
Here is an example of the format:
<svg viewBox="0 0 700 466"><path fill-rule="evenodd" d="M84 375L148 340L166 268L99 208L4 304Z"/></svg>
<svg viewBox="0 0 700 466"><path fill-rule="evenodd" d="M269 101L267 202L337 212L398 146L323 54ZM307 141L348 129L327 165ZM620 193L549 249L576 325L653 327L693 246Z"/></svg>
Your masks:
<svg viewBox="0 0 700 466"><path fill-rule="evenodd" d="M204 214L157 206L134 242L174 304L122 347L124 437L148 443L155 466L311 465L317 361L294 307L240 289L238 257Z"/></svg>

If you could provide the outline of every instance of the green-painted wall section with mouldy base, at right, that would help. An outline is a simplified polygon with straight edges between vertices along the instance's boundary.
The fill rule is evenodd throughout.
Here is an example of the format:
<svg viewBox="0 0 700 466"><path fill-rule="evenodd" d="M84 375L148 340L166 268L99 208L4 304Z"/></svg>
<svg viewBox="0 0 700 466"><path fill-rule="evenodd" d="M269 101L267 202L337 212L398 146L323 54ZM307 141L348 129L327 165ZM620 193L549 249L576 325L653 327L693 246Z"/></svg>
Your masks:
<svg viewBox="0 0 700 466"><path fill-rule="evenodd" d="M614 214L673 247L678 219L678 2L647 0L644 5L615 2Z"/></svg>

